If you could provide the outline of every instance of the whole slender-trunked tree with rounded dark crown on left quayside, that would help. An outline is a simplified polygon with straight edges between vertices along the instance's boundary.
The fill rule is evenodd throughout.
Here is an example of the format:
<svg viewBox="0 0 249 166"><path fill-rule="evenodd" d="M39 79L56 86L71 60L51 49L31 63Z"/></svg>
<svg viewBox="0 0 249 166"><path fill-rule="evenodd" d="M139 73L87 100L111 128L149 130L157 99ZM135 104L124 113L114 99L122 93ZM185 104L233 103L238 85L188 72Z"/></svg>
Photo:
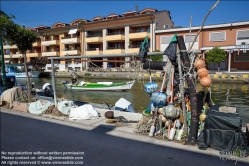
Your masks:
<svg viewBox="0 0 249 166"><path fill-rule="evenodd" d="M30 88L30 78L27 69L27 57L26 51L32 49L32 45L36 42L37 34L30 30L25 29L25 27L20 27L16 25L17 31L13 33L8 33L8 41L11 45L16 45L19 50L21 50L24 56L24 69L27 76L27 86L28 86L28 102L31 102L31 88Z"/></svg>

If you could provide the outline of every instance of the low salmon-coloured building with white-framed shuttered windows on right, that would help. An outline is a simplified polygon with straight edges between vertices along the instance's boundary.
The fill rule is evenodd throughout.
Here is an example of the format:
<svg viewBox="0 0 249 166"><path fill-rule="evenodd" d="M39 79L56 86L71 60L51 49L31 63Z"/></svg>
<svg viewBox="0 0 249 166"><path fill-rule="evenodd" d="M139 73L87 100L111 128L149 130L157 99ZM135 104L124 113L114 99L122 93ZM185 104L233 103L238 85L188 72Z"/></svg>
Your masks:
<svg viewBox="0 0 249 166"><path fill-rule="evenodd" d="M200 26L156 30L156 49L164 51L175 33L184 37L186 48L192 44ZM220 47L227 52L227 57L220 64L209 63L208 69L249 70L249 21L233 22L204 26L194 42L192 49L202 50L204 56L213 47Z"/></svg>

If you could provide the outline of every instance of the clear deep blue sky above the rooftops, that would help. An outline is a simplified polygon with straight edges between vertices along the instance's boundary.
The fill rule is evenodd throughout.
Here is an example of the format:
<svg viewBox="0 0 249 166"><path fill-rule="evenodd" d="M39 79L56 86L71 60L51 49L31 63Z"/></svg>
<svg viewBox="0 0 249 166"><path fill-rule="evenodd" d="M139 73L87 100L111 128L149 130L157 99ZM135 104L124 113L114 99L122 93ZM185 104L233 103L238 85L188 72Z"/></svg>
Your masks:
<svg viewBox="0 0 249 166"><path fill-rule="evenodd" d="M57 22L67 23L76 19L92 20L96 16L120 14L147 7L170 11L175 26L202 25L203 19L216 0L1 0L0 9L15 16L14 22L25 27L52 26ZM249 21L249 0L220 0L211 12L205 25Z"/></svg>

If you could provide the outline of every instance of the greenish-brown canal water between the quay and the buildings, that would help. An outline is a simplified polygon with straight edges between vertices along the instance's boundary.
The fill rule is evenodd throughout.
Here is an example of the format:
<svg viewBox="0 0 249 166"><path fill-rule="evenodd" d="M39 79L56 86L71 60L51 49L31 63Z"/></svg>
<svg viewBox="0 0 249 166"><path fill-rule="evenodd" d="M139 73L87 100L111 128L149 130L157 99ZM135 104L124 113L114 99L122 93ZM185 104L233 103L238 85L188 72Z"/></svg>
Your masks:
<svg viewBox="0 0 249 166"><path fill-rule="evenodd" d="M103 91L80 91L68 90L62 85L62 81L70 81L70 78L56 78L56 93L57 97L70 100L85 101L91 103L115 105L121 97L130 101L136 112L145 110L149 103L149 95L144 91L144 84L148 81L136 81L132 89L128 92L103 92ZM51 83L51 78L33 78L36 88L42 88L45 83ZM97 81L113 81L123 82L124 80L107 80L107 79L81 79L78 81L97 82ZM26 79L18 78L19 84L25 84ZM161 82L157 82L159 87ZM61 84L61 85L59 85ZM197 89L201 90L201 86L197 84ZM211 98L214 104L233 106L239 112L242 123L249 123L249 84L242 83L213 83L211 86Z"/></svg>

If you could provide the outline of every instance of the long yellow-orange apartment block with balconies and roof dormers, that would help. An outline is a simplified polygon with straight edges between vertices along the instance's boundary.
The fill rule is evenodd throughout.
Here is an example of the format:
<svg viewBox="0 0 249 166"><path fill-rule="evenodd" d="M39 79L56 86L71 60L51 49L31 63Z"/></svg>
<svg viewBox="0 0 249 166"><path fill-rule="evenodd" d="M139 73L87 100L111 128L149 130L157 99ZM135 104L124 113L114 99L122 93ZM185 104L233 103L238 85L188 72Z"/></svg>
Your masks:
<svg viewBox="0 0 249 166"><path fill-rule="evenodd" d="M119 67L129 58L116 57L122 53L137 53L147 36L150 51L155 50L155 30L173 28L170 12L146 8L137 11L127 11L122 14L111 13L108 16L96 16L92 20L76 19L71 23L57 22L51 27L39 26L29 28L38 33L37 42L32 50L27 52L27 60L34 57L63 57L113 55L111 58L75 58L56 60L58 71L82 70L86 66L103 68ZM16 46L4 43L6 63L21 63L23 56ZM46 70L52 70L51 64Z"/></svg>

